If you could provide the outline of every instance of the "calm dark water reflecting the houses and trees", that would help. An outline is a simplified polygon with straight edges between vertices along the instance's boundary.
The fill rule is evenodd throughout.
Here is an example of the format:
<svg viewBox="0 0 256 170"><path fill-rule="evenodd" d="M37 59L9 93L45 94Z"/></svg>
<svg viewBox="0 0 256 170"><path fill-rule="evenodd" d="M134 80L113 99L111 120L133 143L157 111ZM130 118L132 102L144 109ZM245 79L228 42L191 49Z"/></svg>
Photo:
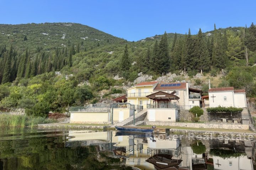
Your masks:
<svg viewBox="0 0 256 170"><path fill-rule="evenodd" d="M0 170L253 170L255 141L116 131L1 129Z"/></svg>

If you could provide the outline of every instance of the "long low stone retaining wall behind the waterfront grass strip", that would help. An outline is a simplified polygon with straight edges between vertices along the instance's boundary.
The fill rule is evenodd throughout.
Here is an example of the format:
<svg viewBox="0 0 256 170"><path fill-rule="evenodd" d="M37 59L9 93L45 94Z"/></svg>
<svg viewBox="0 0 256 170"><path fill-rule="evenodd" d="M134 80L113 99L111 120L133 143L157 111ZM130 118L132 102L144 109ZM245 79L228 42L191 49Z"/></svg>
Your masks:
<svg viewBox="0 0 256 170"><path fill-rule="evenodd" d="M181 123L181 122L159 122L159 121L145 121L146 125L156 126L180 126L187 128L211 128L211 129L244 129L248 130L249 125L242 125L239 123Z"/></svg>

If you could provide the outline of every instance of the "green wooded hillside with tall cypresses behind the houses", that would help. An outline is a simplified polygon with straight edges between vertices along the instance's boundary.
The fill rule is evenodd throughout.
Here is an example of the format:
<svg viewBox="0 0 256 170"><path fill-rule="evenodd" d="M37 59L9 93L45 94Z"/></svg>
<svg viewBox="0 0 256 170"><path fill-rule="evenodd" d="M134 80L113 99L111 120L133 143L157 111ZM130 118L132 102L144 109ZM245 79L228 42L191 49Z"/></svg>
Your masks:
<svg viewBox="0 0 256 170"><path fill-rule="evenodd" d="M101 91L124 94L121 86L138 73L182 71L217 76L219 87L246 89L256 96L256 26L198 34L164 33L130 42L74 23L0 24L0 108L23 108L46 117L69 106L96 103ZM119 75L123 79L115 80ZM207 89L204 90L207 92Z"/></svg>

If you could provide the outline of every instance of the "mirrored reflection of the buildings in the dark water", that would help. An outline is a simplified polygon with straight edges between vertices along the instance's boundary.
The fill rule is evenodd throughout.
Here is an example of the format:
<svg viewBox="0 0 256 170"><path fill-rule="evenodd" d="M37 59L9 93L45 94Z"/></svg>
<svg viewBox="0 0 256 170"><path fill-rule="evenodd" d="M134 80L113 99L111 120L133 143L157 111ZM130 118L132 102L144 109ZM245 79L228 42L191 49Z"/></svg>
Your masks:
<svg viewBox="0 0 256 170"><path fill-rule="evenodd" d="M120 134L117 131L69 131L66 147L98 146L100 151L110 151L127 166L141 170L253 170L252 142L202 141L205 151L196 154L192 143L182 138L171 140L166 135ZM196 143L196 146L198 143ZM224 149L234 153L224 158L211 149ZM209 166L207 168L207 166Z"/></svg>

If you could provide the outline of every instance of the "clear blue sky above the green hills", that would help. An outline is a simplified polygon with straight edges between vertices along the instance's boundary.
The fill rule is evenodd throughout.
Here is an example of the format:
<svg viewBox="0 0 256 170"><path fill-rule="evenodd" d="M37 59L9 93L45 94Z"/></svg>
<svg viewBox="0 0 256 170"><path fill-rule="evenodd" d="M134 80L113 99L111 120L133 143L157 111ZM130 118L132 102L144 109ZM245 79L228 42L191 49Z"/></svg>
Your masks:
<svg viewBox="0 0 256 170"><path fill-rule="evenodd" d="M129 41L256 23L256 1L1 0L0 23L74 22Z"/></svg>

